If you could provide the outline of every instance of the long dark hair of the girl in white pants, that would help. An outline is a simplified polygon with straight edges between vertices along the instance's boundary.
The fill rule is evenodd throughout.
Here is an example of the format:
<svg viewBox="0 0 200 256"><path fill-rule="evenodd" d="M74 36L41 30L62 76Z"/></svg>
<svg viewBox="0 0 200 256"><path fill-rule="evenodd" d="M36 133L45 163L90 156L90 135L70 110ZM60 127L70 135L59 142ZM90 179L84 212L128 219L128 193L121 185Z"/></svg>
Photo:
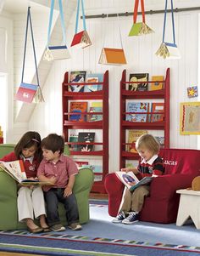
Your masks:
<svg viewBox="0 0 200 256"><path fill-rule="evenodd" d="M25 148L31 148L31 146L36 146L36 153L35 157L39 161L42 160L42 149L41 149L41 135L37 132L29 131L25 133L21 139L19 139L19 142L14 147L14 154L19 159L19 156Z"/></svg>

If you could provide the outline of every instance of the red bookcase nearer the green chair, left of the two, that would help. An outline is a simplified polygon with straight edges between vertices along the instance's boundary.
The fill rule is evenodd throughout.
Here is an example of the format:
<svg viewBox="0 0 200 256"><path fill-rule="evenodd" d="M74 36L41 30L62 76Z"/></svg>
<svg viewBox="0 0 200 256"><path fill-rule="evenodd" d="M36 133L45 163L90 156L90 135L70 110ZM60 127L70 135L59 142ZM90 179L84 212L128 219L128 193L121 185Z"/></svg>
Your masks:
<svg viewBox="0 0 200 256"><path fill-rule="evenodd" d="M79 82L78 85L92 85L95 82ZM108 71L103 74L103 82L96 82L96 84L102 85L102 90L97 90L94 92L71 92L69 91L70 85L75 85L75 82L69 83L69 72L64 74L64 82L62 83L62 100L63 100L63 133L65 141L68 145L83 145L84 143L71 142L69 143L69 132L73 129L75 130L89 130L93 132L95 130L102 130L102 141L93 142L94 151L70 151L71 156L90 156L100 157L103 166L102 180L95 181L92 186L92 192L105 193L104 189L104 177L108 174ZM72 114L69 112L69 102L73 100L86 100L88 103L92 100L102 101L103 111L97 114L102 114L103 119L101 121L88 122L88 121L70 121L69 116ZM74 115L74 113L73 113ZM89 110L84 112L84 116L91 115ZM88 118L86 118L88 120ZM99 145L101 150L95 150L95 145ZM95 174L98 175L98 174Z"/></svg>

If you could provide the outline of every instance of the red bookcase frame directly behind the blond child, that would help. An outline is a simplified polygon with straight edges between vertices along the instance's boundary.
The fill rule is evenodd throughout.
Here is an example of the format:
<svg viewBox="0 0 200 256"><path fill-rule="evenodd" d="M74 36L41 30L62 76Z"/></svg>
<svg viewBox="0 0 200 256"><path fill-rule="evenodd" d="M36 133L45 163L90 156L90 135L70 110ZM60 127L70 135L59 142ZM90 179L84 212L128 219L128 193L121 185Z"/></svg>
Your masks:
<svg viewBox="0 0 200 256"><path fill-rule="evenodd" d="M151 84L155 81L148 81ZM153 91L131 91L128 90L130 82L126 81L126 71L122 72L120 81L120 147L119 147L119 166L125 168L127 160L137 160L139 155L127 151L127 130L147 130L148 134L151 130L163 130L164 132L164 148L169 148L169 87L170 87L170 74L169 68L166 70L164 77L164 86L162 89ZM164 120L160 122L130 122L126 121L127 115L127 101L151 101L151 100L162 100L164 102ZM147 112L147 115L152 115L151 110Z"/></svg>

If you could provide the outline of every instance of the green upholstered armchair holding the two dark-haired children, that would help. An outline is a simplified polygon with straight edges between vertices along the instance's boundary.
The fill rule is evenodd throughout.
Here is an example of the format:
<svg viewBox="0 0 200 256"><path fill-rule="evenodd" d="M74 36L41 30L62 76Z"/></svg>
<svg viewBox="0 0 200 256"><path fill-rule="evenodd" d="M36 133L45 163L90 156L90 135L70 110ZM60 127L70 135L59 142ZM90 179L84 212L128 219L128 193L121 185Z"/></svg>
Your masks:
<svg viewBox="0 0 200 256"><path fill-rule="evenodd" d="M0 145L0 158L14 151L14 145ZM69 147L66 145L64 154L69 155ZM81 224L90 219L89 215L89 193L92 189L94 174L90 168L81 168L75 176L74 193L80 214ZM25 228L25 223L18 221L17 212L17 190L16 181L0 170L0 230L18 230ZM59 203L59 215L63 225L67 224L65 210L62 203Z"/></svg>

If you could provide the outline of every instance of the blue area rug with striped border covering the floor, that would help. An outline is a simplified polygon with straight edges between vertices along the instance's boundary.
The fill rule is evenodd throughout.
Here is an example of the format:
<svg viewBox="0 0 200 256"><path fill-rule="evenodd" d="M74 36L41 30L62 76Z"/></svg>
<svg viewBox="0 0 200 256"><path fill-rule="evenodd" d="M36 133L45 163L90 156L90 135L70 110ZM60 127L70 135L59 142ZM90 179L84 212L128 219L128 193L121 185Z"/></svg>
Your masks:
<svg viewBox="0 0 200 256"><path fill-rule="evenodd" d="M176 228L175 225L171 228L173 225L144 222L138 222L137 225L114 225L108 216L107 203L90 201L91 221L83 225L80 231L67 229L64 232L39 235L30 234L27 230L0 231L0 251L72 256L200 254L199 231L192 224ZM177 238L182 243L177 243L180 241Z"/></svg>

